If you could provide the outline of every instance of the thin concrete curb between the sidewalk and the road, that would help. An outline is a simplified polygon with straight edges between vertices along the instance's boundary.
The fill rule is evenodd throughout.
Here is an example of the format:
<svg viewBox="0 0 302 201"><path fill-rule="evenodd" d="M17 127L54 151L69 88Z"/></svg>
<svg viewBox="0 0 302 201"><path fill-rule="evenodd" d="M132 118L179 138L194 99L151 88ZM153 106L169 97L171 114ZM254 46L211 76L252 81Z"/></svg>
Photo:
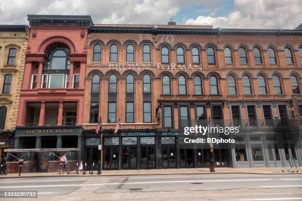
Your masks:
<svg viewBox="0 0 302 201"><path fill-rule="evenodd" d="M207 173L175 173L175 174L87 174L87 175L77 175L77 174L65 174L65 175L37 175L37 176L0 176L0 179L12 179L12 178L38 178L38 177L93 177L93 176L151 176L151 175L186 175L186 174L261 174L261 175L282 175L290 174L289 172L280 173L255 173L255 172L207 172ZM302 173L292 173L292 174L302 174ZM291 174L291 175L292 175Z"/></svg>

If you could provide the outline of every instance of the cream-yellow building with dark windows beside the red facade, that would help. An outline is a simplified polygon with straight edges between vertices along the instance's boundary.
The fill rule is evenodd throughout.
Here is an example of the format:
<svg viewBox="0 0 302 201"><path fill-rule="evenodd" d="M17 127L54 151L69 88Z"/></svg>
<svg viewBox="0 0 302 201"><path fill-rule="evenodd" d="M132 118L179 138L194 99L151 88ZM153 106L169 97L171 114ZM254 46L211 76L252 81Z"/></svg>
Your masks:
<svg viewBox="0 0 302 201"><path fill-rule="evenodd" d="M0 156L12 148L20 103L29 28L0 25Z"/></svg>

